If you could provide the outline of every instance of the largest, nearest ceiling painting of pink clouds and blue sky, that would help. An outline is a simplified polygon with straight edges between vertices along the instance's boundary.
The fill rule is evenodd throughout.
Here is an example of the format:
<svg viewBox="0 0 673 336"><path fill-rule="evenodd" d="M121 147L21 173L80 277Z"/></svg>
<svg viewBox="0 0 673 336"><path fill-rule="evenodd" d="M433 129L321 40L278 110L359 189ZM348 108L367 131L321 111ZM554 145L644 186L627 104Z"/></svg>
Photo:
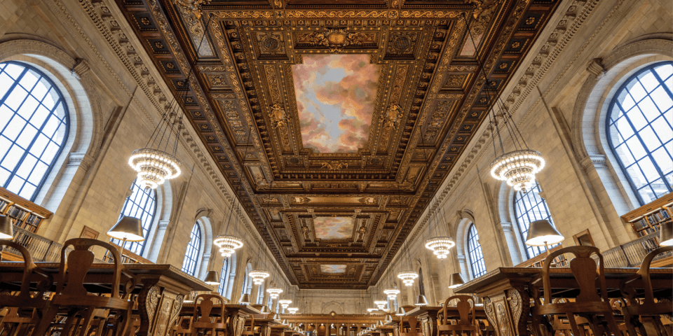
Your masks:
<svg viewBox="0 0 673 336"><path fill-rule="evenodd" d="M380 68L369 55L304 55L292 66L304 147L355 153L365 146Z"/></svg>

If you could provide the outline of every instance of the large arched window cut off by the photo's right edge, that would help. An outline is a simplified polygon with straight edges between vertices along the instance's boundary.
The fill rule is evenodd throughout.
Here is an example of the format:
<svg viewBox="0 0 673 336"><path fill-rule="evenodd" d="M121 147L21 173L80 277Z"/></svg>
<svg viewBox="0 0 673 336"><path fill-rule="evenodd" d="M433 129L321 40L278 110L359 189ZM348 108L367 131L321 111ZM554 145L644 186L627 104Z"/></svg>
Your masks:
<svg viewBox="0 0 673 336"><path fill-rule="evenodd" d="M673 191L673 62L634 73L609 109L610 148L641 205Z"/></svg>

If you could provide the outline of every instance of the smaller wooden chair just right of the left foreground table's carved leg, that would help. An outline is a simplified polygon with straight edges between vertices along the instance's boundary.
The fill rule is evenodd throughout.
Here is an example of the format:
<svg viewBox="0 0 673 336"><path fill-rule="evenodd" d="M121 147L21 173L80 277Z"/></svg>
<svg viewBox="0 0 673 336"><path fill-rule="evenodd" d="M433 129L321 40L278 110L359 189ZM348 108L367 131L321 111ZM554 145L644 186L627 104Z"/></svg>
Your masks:
<svg viewBox="0 0 673 336"><path fill-rule="evenodd" d="M203 299L200 300L199 299ZM216 302L213 302L216 301ZM200 294L194 298L194 311L191 321L191 335L210 335L216 336L218 333L227 335L227 314L224 304L226 300L224 297L214 294ZM221 313L213 314L212 308L215 304L221 309ZM210 332L210 334L209 334Z"/></svg>

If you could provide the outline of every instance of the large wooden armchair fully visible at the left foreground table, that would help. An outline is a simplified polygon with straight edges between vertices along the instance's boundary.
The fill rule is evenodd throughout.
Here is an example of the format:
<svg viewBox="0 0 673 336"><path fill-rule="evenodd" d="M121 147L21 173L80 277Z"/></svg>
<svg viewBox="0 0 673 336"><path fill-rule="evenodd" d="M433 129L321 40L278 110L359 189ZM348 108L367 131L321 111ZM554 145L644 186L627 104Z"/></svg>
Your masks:
<svg viewBox="0 0 673 336"><path fill-rule="evenodd" d="M69 246L72 246L74 250L66 256ZM109 296L93 295L84 288L84 278L93 265L94 254L89 251L93 246L102 246L112 253L113 274L102 282L104 286L110 286ZM129 280L124 283L123 291L120 293L122 274ZM92 322L100 314L100 309L109 309L116 318L112 335L125 334L131 321L130 315L133 308L133 301L128 300L126 296L135 286L135 277L125 271L116 246L97 239L75 238L65 241L61 249L59 276L62 281L58 283L50 307L33 331L33 335L44 335L56 315L63 311L67 318L62 334L89 335ZM79 320L81 322L78 323Z"/></svg>

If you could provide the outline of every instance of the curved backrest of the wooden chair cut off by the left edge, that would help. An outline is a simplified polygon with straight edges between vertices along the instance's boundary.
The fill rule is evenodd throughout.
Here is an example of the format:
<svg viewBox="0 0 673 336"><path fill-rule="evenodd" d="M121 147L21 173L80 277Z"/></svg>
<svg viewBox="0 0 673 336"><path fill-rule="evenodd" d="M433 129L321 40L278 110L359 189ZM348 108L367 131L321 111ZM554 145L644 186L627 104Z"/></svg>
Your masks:
<svg viewBox="0 0 673 336"><path fill-rule="evenodd" d="M0 239L0 246L9 246L14 248L16 251L19 251L23 257L23 276L21 279L21 290L18 295L2 295L2 298L7 298L11 300L16 300L22 302L23 304L29 304L29 301L39 299L43 301L43 293L50 288L53 283L53 276L42 271L39 267L33 262L33 258L30 255L30 252L27 248L21 246L15 241ZM41 278L41 281L38 281L36 292L31 294L30 283L33 277L33 274L38 274ZM0 277L1 279L1 277ZM32 302L34 303L34 302Z"/></svg>

